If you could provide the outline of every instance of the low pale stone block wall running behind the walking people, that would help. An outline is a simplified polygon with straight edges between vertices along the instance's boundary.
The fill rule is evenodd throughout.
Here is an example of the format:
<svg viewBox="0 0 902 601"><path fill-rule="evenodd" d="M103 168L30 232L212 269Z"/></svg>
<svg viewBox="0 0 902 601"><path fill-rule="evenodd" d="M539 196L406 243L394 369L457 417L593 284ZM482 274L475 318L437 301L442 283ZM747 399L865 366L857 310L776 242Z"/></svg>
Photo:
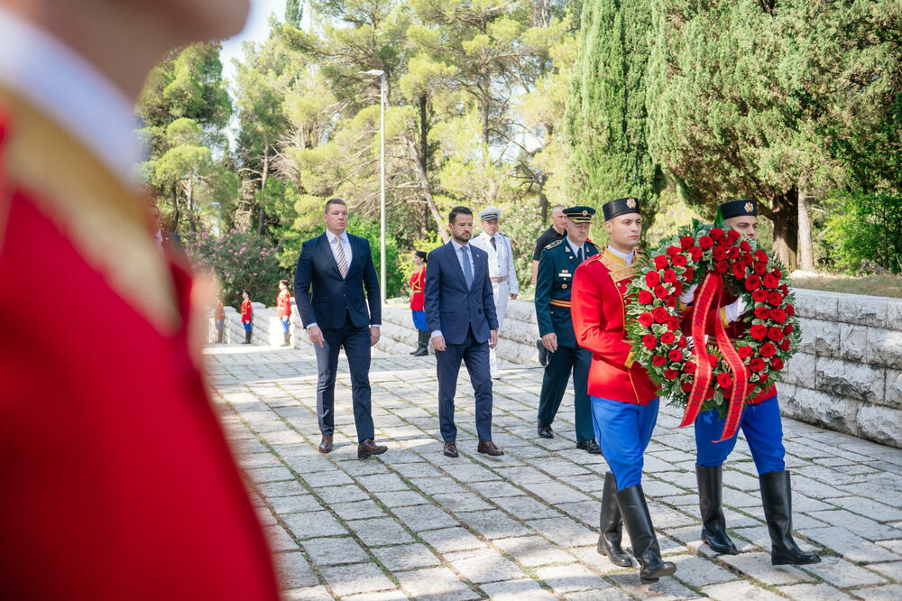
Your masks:
<svg viewBox="0 0 902 601"><path fill-rule="evenodd" d="M795 292L802 344L778 383L783 414L902 448L902 300ZM281 345L275 312L260 303L253 303L253 308L253 343ZM291 316L292 346L312 353L296 307ZM212 319L210 330L214 340ZM537 338L532 302L510 301L498 356L511 363L538 365ZM244 340L241 316L231 308L226 308L225 339L233 344ZM376 348L403 354L416 347L410 309L400 300L390 301L382 308L382 337Z"/></svg>

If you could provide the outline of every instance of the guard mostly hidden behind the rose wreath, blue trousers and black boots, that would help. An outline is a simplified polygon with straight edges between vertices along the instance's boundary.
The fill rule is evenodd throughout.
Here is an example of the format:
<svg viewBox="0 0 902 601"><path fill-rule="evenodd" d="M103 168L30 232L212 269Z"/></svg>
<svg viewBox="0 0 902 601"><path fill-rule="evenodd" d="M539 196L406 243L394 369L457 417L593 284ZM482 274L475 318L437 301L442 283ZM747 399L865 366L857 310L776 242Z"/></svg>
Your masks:
<svg viewBox="0 0 902 601"><path fill-rule="evenodd" d="M751 240L757 239L758 208L754 200L731 200L724 202L719 210L727 226ZM680 301L691 303L694 294L695 290L689 289ZM750 323L742 319L745 312L742 299L724 290L720 306L711 309L708 324L722 319L727 335L735 341L745 337L749 331ZM693 308L686 311L685 323L692 323L694 313ZM713 334L713 328L709 334ZM695 419L695 447L698 449L695 475L702 513L702 541L718 553L734 555L739 551L727 535L723 516L723 461L736 446L739 430L731 439L715 442L721 439L725 419L721 419L716 409L702 411ZM746 400L740 424L758 470L764 517L770 533L771 563L817 563L821 559L814 553L799 549L792 537L792 497L789 472L783 460L786 450L783 448L783 424L775 386Z"/></svg>

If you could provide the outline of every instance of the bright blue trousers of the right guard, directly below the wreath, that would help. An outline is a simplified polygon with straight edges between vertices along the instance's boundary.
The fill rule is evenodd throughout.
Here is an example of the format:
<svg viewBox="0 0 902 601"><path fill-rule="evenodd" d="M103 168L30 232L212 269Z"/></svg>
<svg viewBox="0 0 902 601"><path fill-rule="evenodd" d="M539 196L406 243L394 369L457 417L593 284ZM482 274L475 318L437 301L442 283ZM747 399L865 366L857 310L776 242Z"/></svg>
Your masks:
<svg viewBox="0 0 902 601"><path fill-rule="evenodd" d="M695 463L699 466L722 465L736 446L739 430L733 434L732 439L714 442L721 438L725 421L726 418L722 420L716 409L698 414L695 420L695 447L698 448ZM783 461L786 455L786 449L783 448L783 422L780 421L776 394L767 401L747 403L740 417L740 428L749 442L751 457L755 459L759 475L786 468Z"/></svg>

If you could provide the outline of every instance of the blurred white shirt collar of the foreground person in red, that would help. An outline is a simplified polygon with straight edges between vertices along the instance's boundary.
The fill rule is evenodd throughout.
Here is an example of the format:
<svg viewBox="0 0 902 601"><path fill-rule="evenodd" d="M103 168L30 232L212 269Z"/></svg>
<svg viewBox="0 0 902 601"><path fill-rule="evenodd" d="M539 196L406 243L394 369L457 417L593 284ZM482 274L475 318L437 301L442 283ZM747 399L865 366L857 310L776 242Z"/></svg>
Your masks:
<svg viewBox="0 0 902 601"><path fill-rule="evenodd" d="M51 117L126 185L144 159L132 102L87 60L0 7L0 84Z"/></svg>

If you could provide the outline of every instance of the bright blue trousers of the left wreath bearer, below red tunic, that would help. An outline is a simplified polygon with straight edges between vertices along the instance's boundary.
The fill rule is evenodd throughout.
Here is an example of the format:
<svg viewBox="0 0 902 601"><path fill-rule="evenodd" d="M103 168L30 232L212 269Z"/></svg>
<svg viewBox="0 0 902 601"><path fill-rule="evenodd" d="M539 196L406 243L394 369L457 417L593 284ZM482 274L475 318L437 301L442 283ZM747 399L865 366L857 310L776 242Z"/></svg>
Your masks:
<svg viewBox="0 0 902 601"><path fill-rule="evenodd" d="M647 405L589 398L595 438L617 480L617 490L642 484L645 449L658 421L658 398Z"/></svg>

